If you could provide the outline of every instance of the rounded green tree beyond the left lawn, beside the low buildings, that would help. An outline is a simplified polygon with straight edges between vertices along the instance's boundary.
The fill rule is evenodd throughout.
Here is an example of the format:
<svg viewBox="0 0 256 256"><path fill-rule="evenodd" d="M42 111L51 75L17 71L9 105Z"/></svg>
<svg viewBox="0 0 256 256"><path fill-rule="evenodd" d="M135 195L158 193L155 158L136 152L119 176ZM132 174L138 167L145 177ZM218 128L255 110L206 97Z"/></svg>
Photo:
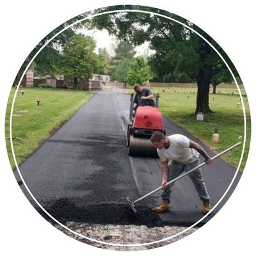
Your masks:
<svg viewBox="0 0 256 256"><path fill-rule="evenodd" d="M64 45L61 52L59 72L64 76L90 79L97 67L96 43L90 36L74 35Z"/></svg>

